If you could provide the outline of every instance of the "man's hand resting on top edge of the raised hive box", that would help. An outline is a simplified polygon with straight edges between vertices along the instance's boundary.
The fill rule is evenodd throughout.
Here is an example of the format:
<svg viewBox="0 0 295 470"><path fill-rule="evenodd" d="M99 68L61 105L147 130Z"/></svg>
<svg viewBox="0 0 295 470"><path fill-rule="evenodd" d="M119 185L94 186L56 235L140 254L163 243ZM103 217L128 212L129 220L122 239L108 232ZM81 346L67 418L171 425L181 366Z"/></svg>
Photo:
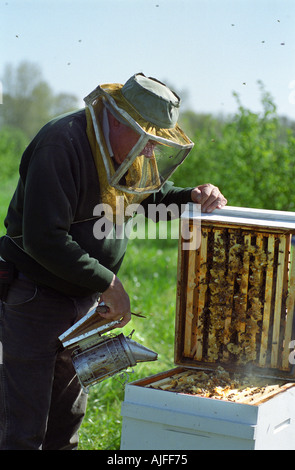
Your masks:
<svg viewBox="0 0 295 470"><path fill-rule="evenodd" d="M201 204L202 212L212 212L221 209L227 204L227 199L221 194L217 186L213 184L201 184L191 192L192 201Z"/></svg>

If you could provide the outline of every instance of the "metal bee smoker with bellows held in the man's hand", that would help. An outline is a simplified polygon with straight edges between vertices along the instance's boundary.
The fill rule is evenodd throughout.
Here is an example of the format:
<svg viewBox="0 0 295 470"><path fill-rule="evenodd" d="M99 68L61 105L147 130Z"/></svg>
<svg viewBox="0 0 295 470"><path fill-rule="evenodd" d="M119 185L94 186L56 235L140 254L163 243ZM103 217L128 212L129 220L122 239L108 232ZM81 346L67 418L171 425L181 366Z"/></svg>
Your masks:
<svg viewBox="0 0 295 470"><path fill-rule="evenodd" d="M157 360L157 353L125 337L109 333L119 321L107 322L99 315L100 306L91 310L59 339L70 350L77 377L84 391L138 362Z"/></svg>

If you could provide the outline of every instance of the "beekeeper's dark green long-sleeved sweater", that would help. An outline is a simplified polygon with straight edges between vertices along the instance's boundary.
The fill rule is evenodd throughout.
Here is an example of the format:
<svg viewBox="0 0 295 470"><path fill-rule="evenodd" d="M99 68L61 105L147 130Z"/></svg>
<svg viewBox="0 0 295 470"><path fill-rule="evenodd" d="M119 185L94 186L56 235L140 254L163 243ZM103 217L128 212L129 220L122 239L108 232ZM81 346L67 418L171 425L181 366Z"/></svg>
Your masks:
<svg viewBox="0 0 295 470"><path fill-rule="evenodd" d="M143 205L184 204L190 192L166 183ZM100 202L85 110L51 121L23 154L0 255L37 284L66 295L105 291L128 240L95 238L93 209Z"/></svg>

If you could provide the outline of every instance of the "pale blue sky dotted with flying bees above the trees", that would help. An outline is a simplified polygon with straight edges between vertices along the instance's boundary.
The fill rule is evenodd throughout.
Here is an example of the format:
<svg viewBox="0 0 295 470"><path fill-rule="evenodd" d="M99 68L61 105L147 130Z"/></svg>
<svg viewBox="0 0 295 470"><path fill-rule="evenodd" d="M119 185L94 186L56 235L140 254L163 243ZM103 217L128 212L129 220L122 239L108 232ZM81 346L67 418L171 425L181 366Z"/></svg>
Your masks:
<svg viewBox="0 0 295 470"><path fill-rule="evenodd" d="M82 102L143 72L194 111L224 114L234 91L259 112L261 80L295 120L294 0L0 0L0 19L0 78L28 60Z"/></svg>

